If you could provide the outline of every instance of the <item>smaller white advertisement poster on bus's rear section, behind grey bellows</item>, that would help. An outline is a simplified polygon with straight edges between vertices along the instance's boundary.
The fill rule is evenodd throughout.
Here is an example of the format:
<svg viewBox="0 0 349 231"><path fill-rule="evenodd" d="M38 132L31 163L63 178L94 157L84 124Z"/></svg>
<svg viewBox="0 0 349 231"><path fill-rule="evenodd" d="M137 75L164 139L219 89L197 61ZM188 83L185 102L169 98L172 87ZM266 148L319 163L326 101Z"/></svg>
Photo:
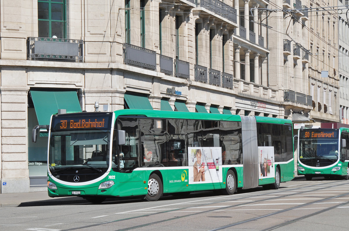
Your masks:
<svg viewBox="0 0 349 231"><path fill-rule="evenodd" d="M274 147L258 147L259 179L275 177Z"/></svg>

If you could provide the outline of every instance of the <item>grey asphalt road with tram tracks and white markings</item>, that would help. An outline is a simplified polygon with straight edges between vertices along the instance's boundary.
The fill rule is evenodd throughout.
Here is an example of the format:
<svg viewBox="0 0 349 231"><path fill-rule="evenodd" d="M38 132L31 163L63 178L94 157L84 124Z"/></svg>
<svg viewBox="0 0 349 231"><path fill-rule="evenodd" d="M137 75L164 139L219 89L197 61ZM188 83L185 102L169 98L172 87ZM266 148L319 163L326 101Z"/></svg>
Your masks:
<svg viewBox="0 0 349 231"><path fill-rule="evenodd" d="M297 178L279 190L234 195L194 192L140 198L85 200L61 205L1 207L0 230L348 230L349 180Z"/></svg>

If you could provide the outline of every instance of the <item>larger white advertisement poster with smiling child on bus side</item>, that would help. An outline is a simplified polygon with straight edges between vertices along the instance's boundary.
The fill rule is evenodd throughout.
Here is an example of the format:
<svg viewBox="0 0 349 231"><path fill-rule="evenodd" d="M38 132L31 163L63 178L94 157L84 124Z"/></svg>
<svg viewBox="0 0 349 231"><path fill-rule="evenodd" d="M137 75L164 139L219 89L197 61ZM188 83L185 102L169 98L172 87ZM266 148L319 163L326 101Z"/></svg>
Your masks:
<svg viewBox="0 0 349 231"><path fill-rule="evenodd" d="M188 147L189 184L222 182L222 148Z"/></svg>

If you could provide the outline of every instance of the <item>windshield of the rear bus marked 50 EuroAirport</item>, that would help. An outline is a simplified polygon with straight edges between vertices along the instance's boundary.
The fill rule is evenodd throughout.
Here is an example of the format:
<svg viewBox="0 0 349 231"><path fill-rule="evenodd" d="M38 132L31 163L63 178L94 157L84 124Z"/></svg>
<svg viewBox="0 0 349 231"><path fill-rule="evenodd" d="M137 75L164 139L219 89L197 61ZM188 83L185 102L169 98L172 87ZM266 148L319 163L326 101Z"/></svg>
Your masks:
<svg viewBox="0 0 349 231"><path fill-rule="evenodd" d="M334 133L338 133L338 131L335 130ZM325 166L331 165L339 159L338 138L326 138L324 136L319 138L318 131L316 133L318 137L306 137L307 135L302 136L302 134L304 133L300 132L298 145L299 162L310 166L316 166L316 163L321 163L321 166ZM308 131L307 134L309 134Z"/></svg>

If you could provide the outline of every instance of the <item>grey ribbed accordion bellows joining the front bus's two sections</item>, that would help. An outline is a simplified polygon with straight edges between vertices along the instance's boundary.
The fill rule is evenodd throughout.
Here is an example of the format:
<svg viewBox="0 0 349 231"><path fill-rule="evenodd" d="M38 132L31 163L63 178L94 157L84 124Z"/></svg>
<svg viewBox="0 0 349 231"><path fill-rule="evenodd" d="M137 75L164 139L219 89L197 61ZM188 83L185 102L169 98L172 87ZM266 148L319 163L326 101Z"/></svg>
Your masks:
<svg viewBox="0 0 349 231"><path fill-rule="evenodd" d="M255 188L259 183L257 123L254 116L240 116L242 126L242 150L244 186Z"/></svg>

